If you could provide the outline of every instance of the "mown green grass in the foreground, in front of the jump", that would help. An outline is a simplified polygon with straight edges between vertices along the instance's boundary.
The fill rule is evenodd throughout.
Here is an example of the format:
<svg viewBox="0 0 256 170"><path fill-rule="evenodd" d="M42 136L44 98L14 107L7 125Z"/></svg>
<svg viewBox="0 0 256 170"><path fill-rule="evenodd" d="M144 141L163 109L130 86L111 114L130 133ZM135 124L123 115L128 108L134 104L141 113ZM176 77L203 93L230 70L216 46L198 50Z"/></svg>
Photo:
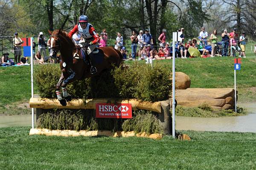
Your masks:
<svg viewBox="0 0 256 170"><path fill-rule="evenodd" d="M182 131L191 141L28 135L0 128L0 170L256 169L256 133Z"/></svg>

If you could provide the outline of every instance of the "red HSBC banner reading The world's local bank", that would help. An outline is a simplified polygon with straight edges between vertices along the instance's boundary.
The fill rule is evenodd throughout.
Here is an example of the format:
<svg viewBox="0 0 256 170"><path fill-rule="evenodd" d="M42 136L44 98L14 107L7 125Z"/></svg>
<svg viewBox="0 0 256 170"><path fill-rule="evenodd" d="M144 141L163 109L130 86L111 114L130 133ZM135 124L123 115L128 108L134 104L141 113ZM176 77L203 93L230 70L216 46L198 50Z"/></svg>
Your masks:
<svg viewBox="0 0 256 170"><path fill-rule="evenodd" d="M132 118L131 104L96 103L96 118Z"/></svg>

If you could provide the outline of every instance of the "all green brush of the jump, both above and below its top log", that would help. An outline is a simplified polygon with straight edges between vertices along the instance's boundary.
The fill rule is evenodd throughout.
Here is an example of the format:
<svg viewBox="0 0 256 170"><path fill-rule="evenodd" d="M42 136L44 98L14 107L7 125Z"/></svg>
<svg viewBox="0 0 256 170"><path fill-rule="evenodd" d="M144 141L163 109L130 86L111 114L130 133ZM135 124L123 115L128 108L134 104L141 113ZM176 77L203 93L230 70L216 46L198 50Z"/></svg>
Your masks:
<svg viewBox="0 0 256 170"><path fill-rule="evenodd" d="M143 101L168 99L172 88L171 70L163 65L134 62L128 68L105 70L93 78L86 78L68 84L68 93L73 98L137 98ZM43 98L56 98L55 86L61 70L57 64L38 66L35 69L35 83ZM39 128L51 130L124 130L162 133L157 114L151 111L133 111L132 119L95 118L93 110L49 109L37 120Z"/></svg>

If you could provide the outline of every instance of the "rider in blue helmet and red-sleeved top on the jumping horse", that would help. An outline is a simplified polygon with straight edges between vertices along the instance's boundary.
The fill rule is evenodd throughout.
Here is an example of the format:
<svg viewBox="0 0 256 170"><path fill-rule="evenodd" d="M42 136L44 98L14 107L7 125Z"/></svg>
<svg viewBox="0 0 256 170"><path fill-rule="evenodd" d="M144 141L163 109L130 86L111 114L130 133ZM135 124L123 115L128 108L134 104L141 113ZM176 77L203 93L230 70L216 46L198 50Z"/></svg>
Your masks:
<svg viewBox="0 0 256 170"><path fill-rule="evenodd" d="M76 24L76 26L68 33L68 36L72 38L72 35L75 34L77 31L79 35L84 38L84 40L80 42L80 44L83 47L87 48L87 55L92 58L93 50L96 49L96 45L98 45L99 42L99 36L96 34L93 26L88 23L88 17L86 15L81 15L79 17L79 24ZM85 58L84 61L85 63L87 63ZM92 66L90 71L91 74L95 74L97 72L97 69L95 66Z"/></svg>

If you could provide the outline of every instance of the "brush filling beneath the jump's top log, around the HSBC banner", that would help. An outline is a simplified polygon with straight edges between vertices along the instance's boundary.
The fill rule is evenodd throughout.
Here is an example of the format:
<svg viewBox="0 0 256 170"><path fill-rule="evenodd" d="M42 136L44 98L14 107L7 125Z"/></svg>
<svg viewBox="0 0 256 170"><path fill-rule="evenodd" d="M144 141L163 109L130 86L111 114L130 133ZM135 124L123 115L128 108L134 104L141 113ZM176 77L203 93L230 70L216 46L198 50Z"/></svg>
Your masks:
<svg viewBox="0 0 256 170"><path fill-rule="evenodd" d="M162 133L156 114L151 111L134 111L132 119L95 118L91 109L49 109L39 115L38 128L50 130L134 130L137 133Z"/></svg>

